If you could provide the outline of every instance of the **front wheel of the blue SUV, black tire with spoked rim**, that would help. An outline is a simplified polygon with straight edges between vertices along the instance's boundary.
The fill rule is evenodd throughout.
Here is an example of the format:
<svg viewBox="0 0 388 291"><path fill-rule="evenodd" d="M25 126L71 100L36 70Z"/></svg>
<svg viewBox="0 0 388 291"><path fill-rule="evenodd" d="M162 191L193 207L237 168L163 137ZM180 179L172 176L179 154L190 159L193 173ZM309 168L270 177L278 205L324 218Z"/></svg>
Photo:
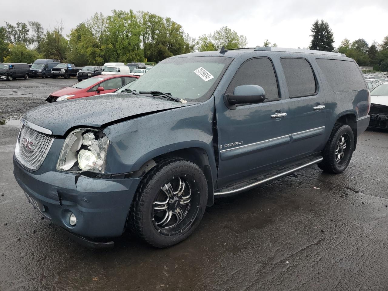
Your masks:
<svg viewBox="0 0 388 291"><path fill-rule="evenodd" d="M182 188L184 192L179 197L175 197L179 194L174 191L173 195L168 196L166 194L169 189L168 184L170 184L171 189L174 189L174 185L179 185L176 192L179 193ZM181 184L184 184L184 187L181 188ZM160 198L160 195L163 198ZM171 199L159 202L160 199L165 200L166 197ZM187 201L187 197L189 197L189 202L180 204L185 199ZM175 203L171 202L173 199L175 199ZM128 217L129 226L135 234L152 246L157 248L172 246L189 237L196 229L203 217L207 199L207 181L199 166L180 158L162 159L145 174L139 184ZM165 205L161 205L163 203ZM155 205L168 208L156 210ZM182 215L180 222L177 206ZM176 211L173 213L174 217L169 214L172 211ZM167 223L166 226L163 222Z"/></svg>

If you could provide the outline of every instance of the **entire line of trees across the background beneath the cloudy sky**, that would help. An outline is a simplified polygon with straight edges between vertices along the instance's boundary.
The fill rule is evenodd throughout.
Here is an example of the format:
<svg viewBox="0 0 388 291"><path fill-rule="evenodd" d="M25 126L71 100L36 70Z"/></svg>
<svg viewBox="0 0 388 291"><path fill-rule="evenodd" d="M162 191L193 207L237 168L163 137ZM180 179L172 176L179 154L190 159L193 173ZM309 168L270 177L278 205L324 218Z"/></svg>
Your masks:
<svg viewBox="0 0 388 291"><path fill-rule="evenodd" d="M345 38L334 47L329 24L316 20L311 28L309 49L340 52L357 61L359 66L388 70L388 35L381 43L370 46L360 38ZM247 46L247 38L224 26L197 38L169 17L133 10L112 10L111 15L95 13L64 35L64 26L44 30L38 21L5 22L0 26L0 62L28 62L35 59L59 59L77 66L100 65L105 62L157 63L178 54L194 51L235 49ZM266 39L262 46L276 47Z"/></svg>

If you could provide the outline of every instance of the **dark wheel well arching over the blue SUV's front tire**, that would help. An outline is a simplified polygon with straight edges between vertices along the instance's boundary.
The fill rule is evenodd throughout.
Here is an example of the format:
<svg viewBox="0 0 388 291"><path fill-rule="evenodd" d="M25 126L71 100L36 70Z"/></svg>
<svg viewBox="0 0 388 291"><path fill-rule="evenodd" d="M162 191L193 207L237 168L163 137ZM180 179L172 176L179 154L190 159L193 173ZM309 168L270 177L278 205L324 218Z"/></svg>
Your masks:
<svg viewBox="0 0 388 291"><path fill-rule="evenodd" d="M158 161L158 158L166 157L178 157L187 159L194 164L198 165L199 168L203 171L206 181L208 182L208 206L214 204L214 187L213 187L213 176L211 174L209 157L204 149L200 147L190 147L186 149L179 149L176 151L168 152L154 158L154 161Z"/></svg>

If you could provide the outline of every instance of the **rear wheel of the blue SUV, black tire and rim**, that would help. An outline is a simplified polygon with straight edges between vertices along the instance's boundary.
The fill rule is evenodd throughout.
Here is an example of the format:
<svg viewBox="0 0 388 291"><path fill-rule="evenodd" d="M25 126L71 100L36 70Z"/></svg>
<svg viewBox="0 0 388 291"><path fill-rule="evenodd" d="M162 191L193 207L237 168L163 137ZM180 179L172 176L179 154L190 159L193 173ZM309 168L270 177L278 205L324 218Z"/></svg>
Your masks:
<svg viewBox="0 0 388 291"><path fill-rule="evenodd" d="M345 148L341 145L342 142L344 142ZM323 160L318 166L326 173L342 173L348 167L353 151L354 135L352 128L346 124L336 123L322 151Z"/></svg>

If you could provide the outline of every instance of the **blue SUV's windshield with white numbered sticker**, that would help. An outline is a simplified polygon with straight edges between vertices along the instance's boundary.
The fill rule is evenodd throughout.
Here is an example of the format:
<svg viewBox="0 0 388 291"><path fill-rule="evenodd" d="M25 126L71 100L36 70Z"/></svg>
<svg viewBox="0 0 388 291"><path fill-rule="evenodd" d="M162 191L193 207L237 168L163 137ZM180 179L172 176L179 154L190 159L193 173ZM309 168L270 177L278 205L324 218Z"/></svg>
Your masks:
<svg viewBox="0 0 388 291"><path fill-rule="evenodd" d="M210 98L229 57L180 57L166 59L135 82L121 89L161 91L176 98L204 101Z"/></svg>

